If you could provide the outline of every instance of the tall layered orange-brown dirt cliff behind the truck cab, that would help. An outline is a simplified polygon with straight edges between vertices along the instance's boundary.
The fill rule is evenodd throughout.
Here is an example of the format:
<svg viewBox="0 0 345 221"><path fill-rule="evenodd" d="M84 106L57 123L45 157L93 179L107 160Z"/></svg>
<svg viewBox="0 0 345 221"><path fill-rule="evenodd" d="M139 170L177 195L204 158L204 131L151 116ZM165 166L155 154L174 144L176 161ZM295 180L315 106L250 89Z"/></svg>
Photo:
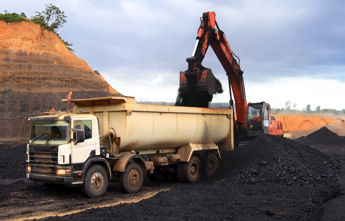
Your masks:
<svg viewBox="0 0 345 221"><path fill-rule="evenodd" d="M28 116L65 110L70 91L73 98L118 94L55 33L0 20L0 140L26 139Z"/></svg>

